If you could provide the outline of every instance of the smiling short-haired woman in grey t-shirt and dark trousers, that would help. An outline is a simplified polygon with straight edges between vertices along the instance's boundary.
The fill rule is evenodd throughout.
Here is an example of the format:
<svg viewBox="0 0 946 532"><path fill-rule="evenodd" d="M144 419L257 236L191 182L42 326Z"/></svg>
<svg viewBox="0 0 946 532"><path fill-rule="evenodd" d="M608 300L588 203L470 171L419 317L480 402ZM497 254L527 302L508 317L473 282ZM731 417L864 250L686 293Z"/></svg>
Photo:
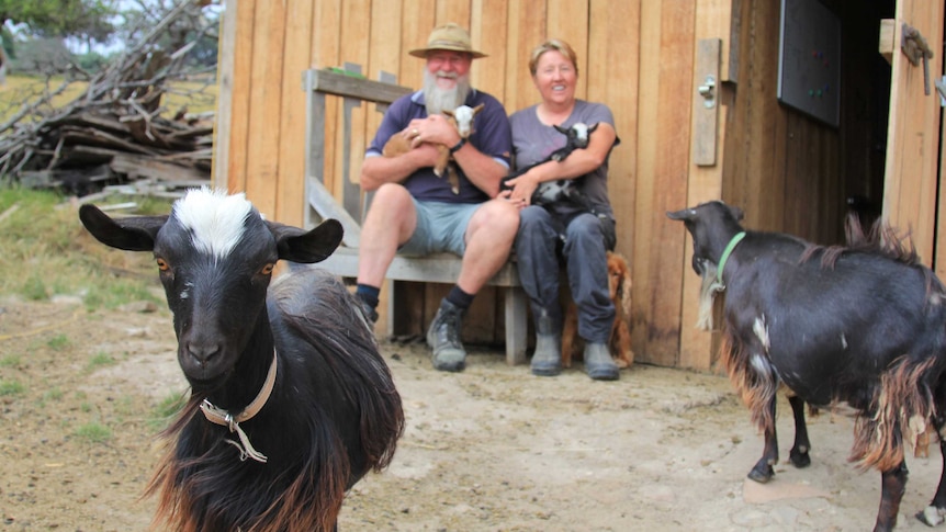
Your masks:
<svg viewBox="0 0 946 532"><path fill-rule="evenodd" d="M620 373L607 342L616 308L608 293L606 254L617 242L608 197L608 159L620 143L615 117L608 106L575 98L577 57L564 41L552 38L537 46L529 71L542 101L509 117L516 168L521 172L506 184L509 199L523 205L516 254L536 324L531 371L540 376L562 371L559 264L564 260L578 309L578 333L585 340L585 372L596 381L615 381ZM568 131L594 135L581 142L582 149L571 149ZM552 182L572 184L572 197L584 200L531 204L536 191Z"/></svg>

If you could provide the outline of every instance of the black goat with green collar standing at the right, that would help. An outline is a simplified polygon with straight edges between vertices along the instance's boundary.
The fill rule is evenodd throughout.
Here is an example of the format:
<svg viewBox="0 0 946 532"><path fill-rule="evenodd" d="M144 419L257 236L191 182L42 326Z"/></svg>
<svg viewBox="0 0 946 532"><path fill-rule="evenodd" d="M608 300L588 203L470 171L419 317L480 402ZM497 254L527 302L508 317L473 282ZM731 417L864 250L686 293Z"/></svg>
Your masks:
<svg viewBox="0 0 946 532"><path fill-rule="evenodd" d="M701 308L709 312L713 295L725 291L721 360L765 435L763 456L748 477L768 482L778 462L780 384L790 390L790 460L799 467L810 462L802 401L847 403L858 412L851 461L880 471L875 530L891 530L906 484L904 439L919 451L927 430L938 433L946 421L943 284L894 230L877 226L874 238L858 238L856 218L849 220L848 235L855 237L848 247L825 248L789 235L744 231L742 212L722 202L667 216L692 235L692 268L703 278ZM946 443L939 445L946 460ZM941 478L917 517L938 524L944 513Z"/></svg>

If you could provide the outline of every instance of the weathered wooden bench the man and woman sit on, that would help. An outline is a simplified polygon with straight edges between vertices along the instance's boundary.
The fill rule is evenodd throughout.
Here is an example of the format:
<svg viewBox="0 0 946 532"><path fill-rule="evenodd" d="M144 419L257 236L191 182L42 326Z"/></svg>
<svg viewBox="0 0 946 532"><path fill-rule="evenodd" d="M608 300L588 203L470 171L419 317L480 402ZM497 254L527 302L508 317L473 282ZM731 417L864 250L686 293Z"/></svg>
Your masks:
<svg viewBox="0 0 946 532"><path fill-rule="evenodd" d="M361 220L373 194L364 194L350 177L351 156L351 110L362 102L374 103L383 113L387 105L413 89L394 84L394 77L382 72L381 81L372 81L358 75L360 67L347 64L345 71L337 69L305 70L303 89L306 91L305 125L305 227L312 228L326 218L336 218L345 227L345 238L338 250L318 267L331 273L352 279L358 275L358 247L361 239ZM342 99L342 160L341 202L325 186L323 179L326 135L326 97ZM387 269L388 280L453 284L460 275L461 260L452 253L437 253L429 257L395 256ZM526 362L528 299L519 283L519 274L514 262L507 262L489 281L488 285L498 286L504 292L506 362ZM396 290L391 291L387 304L388 333L394 330L397 318L394 312Z"/></svg>

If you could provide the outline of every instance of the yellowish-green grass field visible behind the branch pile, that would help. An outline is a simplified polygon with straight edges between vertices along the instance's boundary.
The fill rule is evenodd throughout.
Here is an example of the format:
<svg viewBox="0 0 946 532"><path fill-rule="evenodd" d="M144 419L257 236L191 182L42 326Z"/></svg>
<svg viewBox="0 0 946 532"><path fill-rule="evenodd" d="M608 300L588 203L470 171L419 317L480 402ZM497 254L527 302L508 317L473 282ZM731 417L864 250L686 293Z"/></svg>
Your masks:
<svg viewBox="0 0 946 532"><path fill-rule="evenodd" d="M63 78L53 78L48 90L56 90L63 83ZM32 76L8 76L7 84L0 86L0 123L5 122L20 111L26 102L34 102L45 89L45 79ZM76 81L60 94L53 99L53 105L58 107L65 105L76 98L81 97L88 84L85 81ZM204 87L200 82L177 82L171 86L171 91L166 94L161 104L166 111L165 116L172 116L182 106L187 105L190 113L203 113L216 109L216 95L218 86ZM200 92L198 92L200 91ZM180 92L180 93L178 93Z"/></svg>

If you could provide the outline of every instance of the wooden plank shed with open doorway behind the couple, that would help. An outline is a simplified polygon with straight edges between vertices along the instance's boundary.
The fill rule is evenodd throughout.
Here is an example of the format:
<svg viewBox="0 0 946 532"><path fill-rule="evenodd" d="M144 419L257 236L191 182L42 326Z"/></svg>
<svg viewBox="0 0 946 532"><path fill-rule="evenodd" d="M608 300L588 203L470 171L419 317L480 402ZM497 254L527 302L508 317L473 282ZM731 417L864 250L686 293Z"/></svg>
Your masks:
<svg viewBox="0 0 946 532"><path fill-rule="evenodd" d="M469 27L488 54L473 84L510 113L538 100L528 55L553 36L578 54L578 97L613 111L621 145L609 186L641 362L707 370L716 358L712 335L694 327L699 280L671 210L722 199L746 212L748 228L835 244L854 197L911 230L921 258L946 270L938 0L228 0L215 184L302 225L303 72L353 64L419 87L423 61L407 50L446 22ZM323 178L340 195L381 113L329 101L325 118ZM446 288L409 291L423 305ZM477 296L466 341L502 341L500 290Z"/></svg>

